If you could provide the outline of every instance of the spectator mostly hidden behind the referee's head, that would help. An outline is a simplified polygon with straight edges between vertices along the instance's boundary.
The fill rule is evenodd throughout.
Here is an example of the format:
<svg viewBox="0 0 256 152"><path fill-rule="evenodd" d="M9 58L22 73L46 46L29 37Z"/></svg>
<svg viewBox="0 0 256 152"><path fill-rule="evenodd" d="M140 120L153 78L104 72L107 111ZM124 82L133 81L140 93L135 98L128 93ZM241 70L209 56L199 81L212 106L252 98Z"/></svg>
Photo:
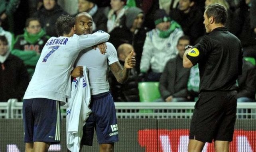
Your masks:
<svg viewBox="0 0 256 152"><path fill-rule="evenodd" d="M227 29L230 29L230 26L232 25L233 12L232 12L232 10L229 9L228 2L226 2L226 0L205 0L205 6L208 6L208 5L214 4L214 3L221 4L221 5L225 6L226 9L228 10L228 18L226 19L225 27Z"/></svg>

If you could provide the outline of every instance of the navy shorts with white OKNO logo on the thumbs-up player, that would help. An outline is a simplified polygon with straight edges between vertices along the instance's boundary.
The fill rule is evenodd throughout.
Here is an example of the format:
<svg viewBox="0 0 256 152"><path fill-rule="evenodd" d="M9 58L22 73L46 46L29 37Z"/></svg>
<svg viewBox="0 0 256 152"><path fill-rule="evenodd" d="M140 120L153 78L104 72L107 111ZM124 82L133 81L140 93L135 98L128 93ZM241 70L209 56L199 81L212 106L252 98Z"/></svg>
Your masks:
<svg viewBox="0 0 256 152"><path fill-rule="evenodd" d="M118 126L116 108L110 92L93 95L89 115L83 127L81 144L92 146L94 128L99 144L106 144L118 141Z"/></svg>

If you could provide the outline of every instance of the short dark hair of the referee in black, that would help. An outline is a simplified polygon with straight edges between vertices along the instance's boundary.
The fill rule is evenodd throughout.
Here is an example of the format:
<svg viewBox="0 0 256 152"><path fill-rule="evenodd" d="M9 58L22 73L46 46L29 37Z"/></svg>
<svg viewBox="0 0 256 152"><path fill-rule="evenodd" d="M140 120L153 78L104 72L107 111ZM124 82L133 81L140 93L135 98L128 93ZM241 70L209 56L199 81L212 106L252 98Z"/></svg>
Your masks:
<svg viewBox="0 0 256 152"><path fill-rule="evenodd" d="M213 18L215 19L215 23L221 23L223 25L226 23L226 19L228 16L226 7L218 3L206 6L205 14L207 18L213 16Z"/></svg>

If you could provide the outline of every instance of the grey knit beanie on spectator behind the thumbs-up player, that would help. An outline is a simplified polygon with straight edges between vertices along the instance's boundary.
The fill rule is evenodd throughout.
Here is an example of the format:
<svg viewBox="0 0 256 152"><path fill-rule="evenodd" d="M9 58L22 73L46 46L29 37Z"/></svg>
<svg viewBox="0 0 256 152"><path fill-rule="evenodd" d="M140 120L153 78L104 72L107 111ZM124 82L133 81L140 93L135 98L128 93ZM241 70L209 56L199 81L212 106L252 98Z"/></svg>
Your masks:
<svg viewBox="0 0 256 152"><path fill-rule="evenodd" d="M132 27L134 20L137 18L138 14L140 13L143 13L143 11L137 7L131 7L125 11L125 17L126 17L125 25L128 29Z"/></svg>

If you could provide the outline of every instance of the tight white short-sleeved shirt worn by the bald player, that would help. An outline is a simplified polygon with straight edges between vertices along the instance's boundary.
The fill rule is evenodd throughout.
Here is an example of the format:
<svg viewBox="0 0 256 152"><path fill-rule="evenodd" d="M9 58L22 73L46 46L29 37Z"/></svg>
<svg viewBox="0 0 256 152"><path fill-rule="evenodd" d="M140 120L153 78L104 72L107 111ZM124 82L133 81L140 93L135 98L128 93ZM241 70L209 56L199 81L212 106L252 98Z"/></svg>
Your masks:
<svg viewBox="0 0 256 152"><path fill-rule="evenodd" d="M76 66L86 66L88 69L89 83L92 89L91 94L97 95L108 92L108 65L117 62L117 53L115 47L106 42L108 49L105 55L94 49L85 49L79 53ZM86 52L86 53L85 53Z"/></svg>

